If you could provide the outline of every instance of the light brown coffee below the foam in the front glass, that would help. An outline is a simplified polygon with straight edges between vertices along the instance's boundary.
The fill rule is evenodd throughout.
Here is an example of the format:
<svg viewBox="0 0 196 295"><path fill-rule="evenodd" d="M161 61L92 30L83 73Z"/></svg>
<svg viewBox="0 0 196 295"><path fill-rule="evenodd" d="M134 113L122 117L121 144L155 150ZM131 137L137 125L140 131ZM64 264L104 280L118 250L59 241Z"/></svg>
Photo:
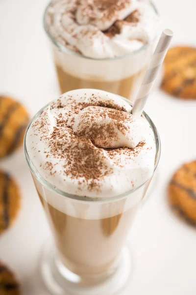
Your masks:
<svg viewBox="0 0 196 295"><path fill-rule="evenodd" d="M41 196L53 228L63 264L84 278L105 276L112 272L137 205L121 214L104 219L81 219L65 214Z"/></svg>

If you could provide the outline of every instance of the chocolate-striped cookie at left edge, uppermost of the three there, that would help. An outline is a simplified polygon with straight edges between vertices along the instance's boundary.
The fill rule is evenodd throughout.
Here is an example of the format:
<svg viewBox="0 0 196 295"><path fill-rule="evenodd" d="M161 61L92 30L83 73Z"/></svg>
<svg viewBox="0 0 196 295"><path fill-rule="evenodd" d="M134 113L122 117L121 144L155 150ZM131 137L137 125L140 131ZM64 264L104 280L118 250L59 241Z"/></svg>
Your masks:
<svg viewBox="0 0 196 295"><path fill-rule="evenodd" d="M19 102L0 96L0 158L23 145L28 121L28 114Z"/></svg>

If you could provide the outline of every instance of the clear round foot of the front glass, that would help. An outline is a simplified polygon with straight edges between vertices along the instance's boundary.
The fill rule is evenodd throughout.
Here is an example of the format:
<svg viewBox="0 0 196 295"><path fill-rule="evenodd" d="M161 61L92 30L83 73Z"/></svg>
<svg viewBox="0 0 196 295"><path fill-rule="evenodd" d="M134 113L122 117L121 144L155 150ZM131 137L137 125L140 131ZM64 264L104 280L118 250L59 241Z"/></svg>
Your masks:
<svg viewBox="0 0 196 295"><path fill-rule="evenodd" d="M130 247L123 247L116 271L94 285L66 268L55 255L54 246L47 243L41 258L41 274L46 287L53 295L119 295L130 281L132 259Z"/></svg>

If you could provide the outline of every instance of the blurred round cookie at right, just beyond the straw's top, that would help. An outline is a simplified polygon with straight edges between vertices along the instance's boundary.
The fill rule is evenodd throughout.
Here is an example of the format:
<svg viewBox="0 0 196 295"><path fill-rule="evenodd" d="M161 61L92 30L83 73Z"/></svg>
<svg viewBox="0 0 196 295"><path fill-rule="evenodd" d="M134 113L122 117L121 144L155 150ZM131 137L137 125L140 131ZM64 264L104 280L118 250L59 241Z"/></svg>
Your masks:
<svg viewBox="0 0 196 295"><path fill-rule="evenodd" d="M196 48L169 49L164 66L161 88L179 98L196 98Z"/></svg>

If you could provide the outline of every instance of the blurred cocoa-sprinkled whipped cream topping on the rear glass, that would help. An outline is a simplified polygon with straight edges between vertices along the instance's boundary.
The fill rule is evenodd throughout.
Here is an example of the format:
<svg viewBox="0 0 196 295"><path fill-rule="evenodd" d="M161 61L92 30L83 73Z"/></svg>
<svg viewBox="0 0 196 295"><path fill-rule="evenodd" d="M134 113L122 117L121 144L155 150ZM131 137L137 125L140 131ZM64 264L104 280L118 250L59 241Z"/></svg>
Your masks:
<svg viewBox="0 0 196 295"><path fill-rule="evenodd" d="M148 0L52 0L45 21L60 44L85 57L105 59L150 43L158 16Z"/></svg>

